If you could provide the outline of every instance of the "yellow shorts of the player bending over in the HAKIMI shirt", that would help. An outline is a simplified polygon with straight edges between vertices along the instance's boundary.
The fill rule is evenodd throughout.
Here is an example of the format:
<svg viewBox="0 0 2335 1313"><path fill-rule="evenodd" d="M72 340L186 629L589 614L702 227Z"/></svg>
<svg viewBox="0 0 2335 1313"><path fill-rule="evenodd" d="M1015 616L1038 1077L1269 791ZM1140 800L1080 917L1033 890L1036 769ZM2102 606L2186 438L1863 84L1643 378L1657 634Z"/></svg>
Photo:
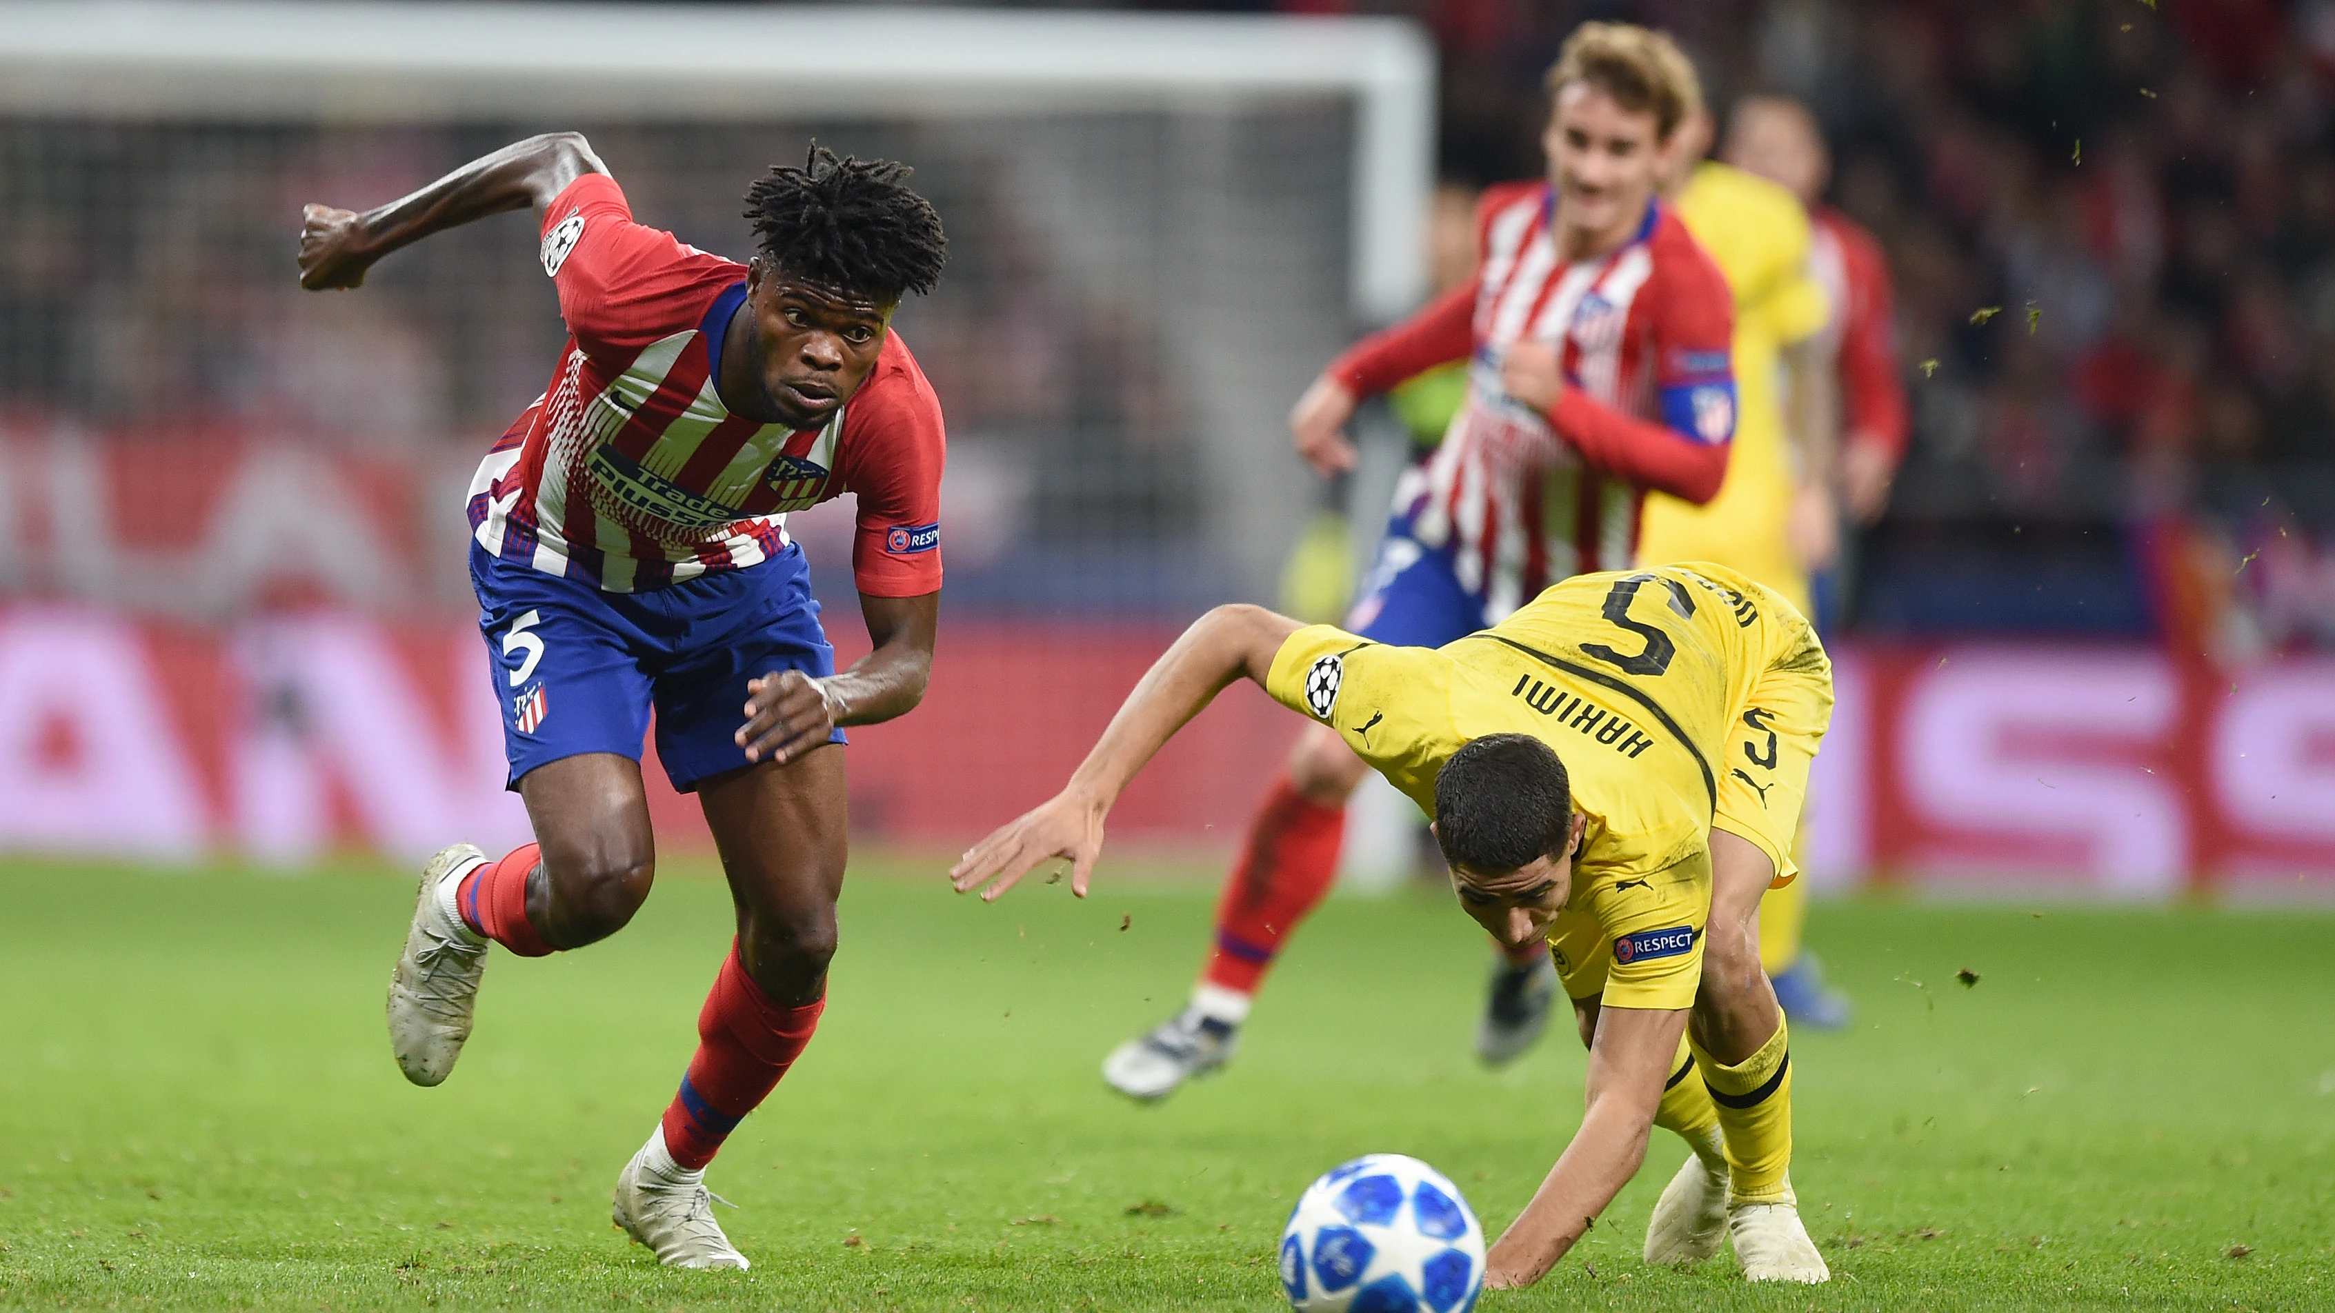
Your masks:
<svg viewBox="0 0 2335 1313"><path fill-rule="evenodd" d="M1726 759L1714 764L1719 808L1712 829L1749 839L1775 862L1770 883L1789 885L1800 874L1791 843L1807 801L1807 769L1833 722L1833 661L1798 607L1775 589L1740 582L1754 589L1765 659L1728 717Z"/></svg>

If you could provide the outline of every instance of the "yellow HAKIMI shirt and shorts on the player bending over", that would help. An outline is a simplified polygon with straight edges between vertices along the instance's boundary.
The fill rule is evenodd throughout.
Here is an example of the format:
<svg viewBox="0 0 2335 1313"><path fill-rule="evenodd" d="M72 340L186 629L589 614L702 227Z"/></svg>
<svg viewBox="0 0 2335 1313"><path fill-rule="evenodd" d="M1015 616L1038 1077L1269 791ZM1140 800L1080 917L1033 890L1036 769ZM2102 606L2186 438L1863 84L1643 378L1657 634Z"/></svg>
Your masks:
<svg viewBox="0 0 2335 1313"><path fill-rule="evenodd" d="M1707 563L1578 575L1445 647L1387 647L1343 628L1289 635L1266 680L1338 729L1434 815L1436 773L1487 734L1532 734L1564 762L1588 818L1553 942L1567 988L1581 928L1590 993L1688 1007L1709 916L1709 829L1742 832L1791 878L1807 764L1831 720L1831 666L1807 619ZM1585 995L1576 995L1585 998Z"/></svg>

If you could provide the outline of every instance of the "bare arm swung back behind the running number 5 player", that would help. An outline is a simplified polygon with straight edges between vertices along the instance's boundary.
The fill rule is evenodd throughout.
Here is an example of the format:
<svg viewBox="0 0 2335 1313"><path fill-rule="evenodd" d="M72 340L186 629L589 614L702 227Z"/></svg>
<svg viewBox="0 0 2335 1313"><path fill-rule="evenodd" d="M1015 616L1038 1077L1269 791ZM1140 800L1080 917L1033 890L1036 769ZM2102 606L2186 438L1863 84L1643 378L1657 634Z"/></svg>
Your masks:
<svg viewBox="0 0 2335 1313"><path fill-rule="evenodd" d="M383 255L472 220L549 206L586 173L607 173L584 133L544 133L474 159L388 206L341 210L306 206L299 234L299 285L357 287Z"/></svg>

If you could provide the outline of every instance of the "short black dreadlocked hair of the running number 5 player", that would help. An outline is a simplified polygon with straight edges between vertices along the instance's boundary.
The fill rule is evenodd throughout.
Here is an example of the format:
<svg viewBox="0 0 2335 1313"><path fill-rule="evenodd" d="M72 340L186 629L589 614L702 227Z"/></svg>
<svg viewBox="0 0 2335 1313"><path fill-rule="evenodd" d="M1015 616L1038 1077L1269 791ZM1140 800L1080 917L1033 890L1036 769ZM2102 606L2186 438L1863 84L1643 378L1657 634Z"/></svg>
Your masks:
<svg viewBox="0 0 2335 1313"><path fill-rule="evenodd" d="M908 173L810 143L801 168L773 164L745 189L745 217L778 269L890 306L932 292L948 262L941 215L906 187Z"/></svg>

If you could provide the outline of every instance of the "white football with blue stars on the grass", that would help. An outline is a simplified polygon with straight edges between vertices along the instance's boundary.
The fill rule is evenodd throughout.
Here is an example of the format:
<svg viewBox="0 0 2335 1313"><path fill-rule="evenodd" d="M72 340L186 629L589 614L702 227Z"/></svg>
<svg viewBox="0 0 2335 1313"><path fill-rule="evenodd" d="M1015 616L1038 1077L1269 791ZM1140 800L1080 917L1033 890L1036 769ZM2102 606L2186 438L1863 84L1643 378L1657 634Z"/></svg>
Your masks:
<svg viewBox="0 0 2335 1313"><path fill-rule="evenodd" d="M1289 1210L1282 1290L1305 1313L1466 1313L1483 1292L1483 1227L1420 1159L1354 1159Z"/></svg>

